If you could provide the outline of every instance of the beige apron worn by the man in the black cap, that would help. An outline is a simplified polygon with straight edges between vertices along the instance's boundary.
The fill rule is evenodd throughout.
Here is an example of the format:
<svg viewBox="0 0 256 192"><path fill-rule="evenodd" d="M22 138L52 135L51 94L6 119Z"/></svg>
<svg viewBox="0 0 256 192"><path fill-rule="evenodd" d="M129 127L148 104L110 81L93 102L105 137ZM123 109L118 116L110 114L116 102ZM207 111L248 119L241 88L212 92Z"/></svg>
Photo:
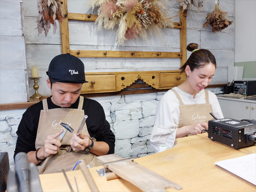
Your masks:
<svg viewBox="0 0 256 192"><path fill-rule="evenodd" d="M64 169L65 171L71 171L75 166L76 162L78 162L79 160L84 160L90 167L102 165L96 160L97 156L95 154L86 152L85 150L70 153L67 152L70 147L69 141L72 138L73 134L76 134L84 118L84 110L82 110L83 102L84 97L80 96L77 109L56 108L48 110L47 100L43 100L44 110L41 110L40 113L35 143L36 149L44 146L44 141L47 139L47 136L55 134L63 129L60 123L66 123L74 129L74 132L72 133L67 131L66 135L62 140L60 150L57 154L54 154L52 156L43 174L61 172L62 169ZM88 133L86 124L84 124L82 132ZM96 141L95 138L91 139ZM42 163L38 164L38 170L41 166ZM79 166L76 166L76 170L78 168Z"/></svg>

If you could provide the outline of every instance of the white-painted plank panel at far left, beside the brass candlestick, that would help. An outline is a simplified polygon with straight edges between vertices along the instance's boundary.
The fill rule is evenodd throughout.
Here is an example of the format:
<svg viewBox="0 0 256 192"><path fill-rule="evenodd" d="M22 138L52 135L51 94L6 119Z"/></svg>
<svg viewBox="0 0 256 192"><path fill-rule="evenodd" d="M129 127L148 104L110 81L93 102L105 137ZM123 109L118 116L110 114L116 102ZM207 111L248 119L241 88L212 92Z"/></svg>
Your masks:
<svg viewBox="0 0 256 192"><path fill-rule="evenodd" d="M0 103L26 102L25 40L21 0L0 1Z"/></svg>

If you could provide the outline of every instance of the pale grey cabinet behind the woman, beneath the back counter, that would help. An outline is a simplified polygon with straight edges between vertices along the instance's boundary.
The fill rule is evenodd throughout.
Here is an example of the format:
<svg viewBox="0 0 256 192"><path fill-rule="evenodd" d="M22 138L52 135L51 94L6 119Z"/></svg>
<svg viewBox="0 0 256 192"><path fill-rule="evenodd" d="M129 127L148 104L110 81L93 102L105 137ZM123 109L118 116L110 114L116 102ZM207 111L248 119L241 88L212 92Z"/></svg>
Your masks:
<svg viewBox="0 0 256 192"><path fill-rule="evenodd" d="M218 97L224 117L236 120L256 119L256 102L246 99Z"/></svg>

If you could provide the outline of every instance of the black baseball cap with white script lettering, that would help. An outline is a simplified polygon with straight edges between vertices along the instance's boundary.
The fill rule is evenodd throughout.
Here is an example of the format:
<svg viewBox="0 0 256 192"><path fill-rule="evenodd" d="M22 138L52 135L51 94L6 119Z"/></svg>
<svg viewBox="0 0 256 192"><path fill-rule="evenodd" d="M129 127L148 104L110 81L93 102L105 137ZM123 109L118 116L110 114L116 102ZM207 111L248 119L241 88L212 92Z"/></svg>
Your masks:
<svg viewBox="0 0 256 192"><path fill-rule="evenodd" d="M49 78L62 83L87 83L84 75L84 64L77 57L61 54L52 59L48 71Z"/></svg>

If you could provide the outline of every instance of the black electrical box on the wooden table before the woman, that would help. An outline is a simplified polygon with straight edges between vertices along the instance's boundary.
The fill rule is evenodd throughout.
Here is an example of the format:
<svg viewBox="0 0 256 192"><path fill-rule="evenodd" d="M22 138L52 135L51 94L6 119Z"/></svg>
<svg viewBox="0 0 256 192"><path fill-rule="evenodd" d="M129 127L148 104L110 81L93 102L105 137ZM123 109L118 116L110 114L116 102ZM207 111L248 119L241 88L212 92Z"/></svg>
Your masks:
<svg viewBox="0 0 256 192"><path fill-rule="evenodd" d="M252 146L256 139L256 124L223 118L208 122L208 138L239 149Z"/></svg>

